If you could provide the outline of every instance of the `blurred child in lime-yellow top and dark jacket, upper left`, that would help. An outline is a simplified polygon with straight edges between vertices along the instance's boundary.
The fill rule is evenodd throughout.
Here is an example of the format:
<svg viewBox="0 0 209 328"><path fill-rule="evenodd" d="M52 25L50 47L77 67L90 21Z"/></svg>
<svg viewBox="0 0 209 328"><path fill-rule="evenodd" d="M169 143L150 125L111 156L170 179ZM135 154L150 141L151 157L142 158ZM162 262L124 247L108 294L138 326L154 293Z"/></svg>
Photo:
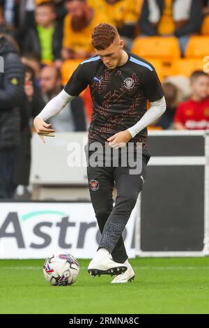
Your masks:
<svg viewBox="0 0 209 328"><path fill-rule="evenodd" d="M36 6L36 27L26 31L24 52L34 52L40 56L42 64L61 66L61 45L63 27L55 22L56 12L52 2L42 2Z"/></svg>

